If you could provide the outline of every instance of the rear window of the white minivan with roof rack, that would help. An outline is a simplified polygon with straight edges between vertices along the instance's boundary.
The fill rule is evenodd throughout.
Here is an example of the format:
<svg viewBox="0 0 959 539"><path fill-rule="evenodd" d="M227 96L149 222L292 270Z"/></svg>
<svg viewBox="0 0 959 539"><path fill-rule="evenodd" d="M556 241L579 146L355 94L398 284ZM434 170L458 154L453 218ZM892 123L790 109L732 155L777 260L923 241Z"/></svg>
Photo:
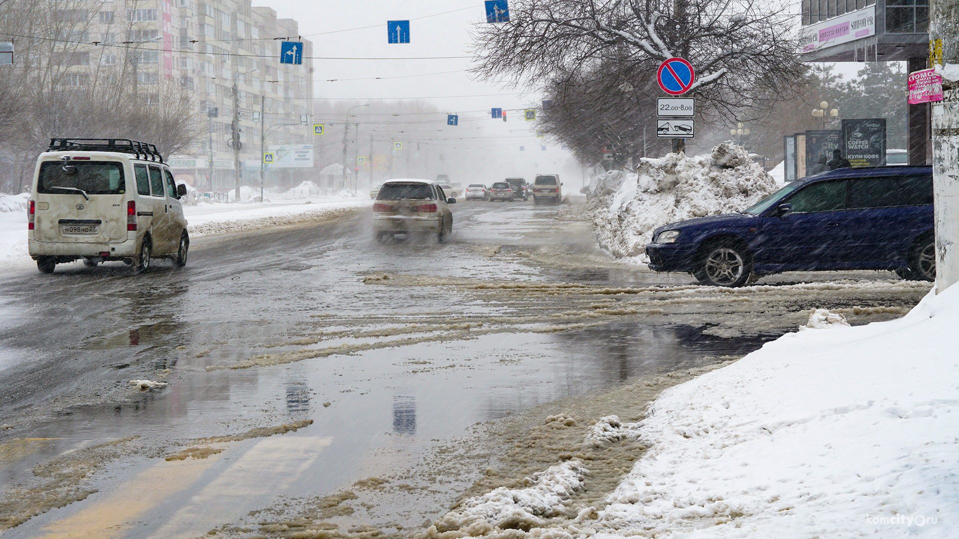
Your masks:
<svg viewBox="0 0 959 539"><path fill-rule="evenodd" d="M64 173L62 161L41 163L37 192L65 195L74 189L80 189L87 195L120 195L126 191L123 163L71 160L69 165L76 169L76 173Z"/></svg>

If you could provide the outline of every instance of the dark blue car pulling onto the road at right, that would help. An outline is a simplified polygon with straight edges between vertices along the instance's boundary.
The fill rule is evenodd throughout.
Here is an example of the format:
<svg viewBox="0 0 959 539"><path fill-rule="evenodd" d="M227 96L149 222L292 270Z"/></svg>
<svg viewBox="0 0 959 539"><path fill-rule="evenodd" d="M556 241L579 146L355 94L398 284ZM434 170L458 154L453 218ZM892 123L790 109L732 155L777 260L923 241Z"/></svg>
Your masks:
<svg viewBox="0 0 959 539"><path fill-rule="evenodd" d="M738 214L660 226L649 268L737 287L781 271L891 269L933 280L932 167L838 169L786 184Z"/></svg>

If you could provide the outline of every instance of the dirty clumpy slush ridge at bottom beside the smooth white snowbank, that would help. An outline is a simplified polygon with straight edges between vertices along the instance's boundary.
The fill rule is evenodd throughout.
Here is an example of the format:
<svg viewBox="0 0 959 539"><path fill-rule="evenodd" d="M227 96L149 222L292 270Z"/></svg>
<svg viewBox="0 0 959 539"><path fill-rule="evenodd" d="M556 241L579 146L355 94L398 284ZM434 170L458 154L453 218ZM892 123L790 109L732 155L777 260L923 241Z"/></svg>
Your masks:
<svg viewBox="0 0 959 539"><path fill-rule="evenodd" d="M582 464L569 460L550 466L535 474L526 488L511 489L501 486L476 498L459 503L452 511L436 521L417 539L440 537L450 530L462 530L470 535L482 535L504 529L542 527L544 518L562 515L563 501L583 487L583 476L588 471ZM456 535L459 537L460 535Z"/></svg>

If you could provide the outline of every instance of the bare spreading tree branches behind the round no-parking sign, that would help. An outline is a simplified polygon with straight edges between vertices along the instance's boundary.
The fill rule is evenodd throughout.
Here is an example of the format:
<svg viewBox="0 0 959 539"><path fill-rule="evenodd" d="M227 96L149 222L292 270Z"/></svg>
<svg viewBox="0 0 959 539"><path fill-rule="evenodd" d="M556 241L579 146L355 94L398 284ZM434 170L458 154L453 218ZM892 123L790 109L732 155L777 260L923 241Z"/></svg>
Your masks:
<svg viewBox="0 0 959 539"><path fill-rule="evenodd" d="M789 7L762 0L518 0L509 22L479 28L475 72L552 88L601 72L651 90L658 65L682 57L696 70L687 95L699 98L704 118L749 120L804 80Z"/></svg>

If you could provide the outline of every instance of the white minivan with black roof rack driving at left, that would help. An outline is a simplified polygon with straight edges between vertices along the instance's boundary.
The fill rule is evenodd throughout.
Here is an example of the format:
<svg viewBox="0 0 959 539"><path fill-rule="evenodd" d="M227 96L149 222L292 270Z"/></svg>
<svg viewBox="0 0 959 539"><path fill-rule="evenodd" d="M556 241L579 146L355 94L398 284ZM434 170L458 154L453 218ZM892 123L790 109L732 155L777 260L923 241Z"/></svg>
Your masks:
<svg viewBox="0 0 959 539"><path fill-rule="evenodd" d="M186 264L190 236L156 146L127 139L55 138L36 159L28 245L36 267L122 260L138 272L154 257Z"/></svg>

